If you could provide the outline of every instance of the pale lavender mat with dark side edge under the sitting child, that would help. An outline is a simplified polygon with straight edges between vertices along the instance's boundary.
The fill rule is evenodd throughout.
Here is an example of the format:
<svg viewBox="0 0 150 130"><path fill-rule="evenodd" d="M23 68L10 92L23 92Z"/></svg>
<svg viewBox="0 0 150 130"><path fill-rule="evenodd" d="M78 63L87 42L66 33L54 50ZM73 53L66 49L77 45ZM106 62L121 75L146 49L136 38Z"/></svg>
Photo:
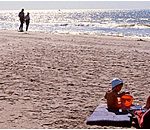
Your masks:
<svg viewBox="0 0 150 130"><path fill-rule="evenodd" d="M99 105L87 118L86 124L131 127L132 119L128 112L112 111L106 105Z"/></svg>

